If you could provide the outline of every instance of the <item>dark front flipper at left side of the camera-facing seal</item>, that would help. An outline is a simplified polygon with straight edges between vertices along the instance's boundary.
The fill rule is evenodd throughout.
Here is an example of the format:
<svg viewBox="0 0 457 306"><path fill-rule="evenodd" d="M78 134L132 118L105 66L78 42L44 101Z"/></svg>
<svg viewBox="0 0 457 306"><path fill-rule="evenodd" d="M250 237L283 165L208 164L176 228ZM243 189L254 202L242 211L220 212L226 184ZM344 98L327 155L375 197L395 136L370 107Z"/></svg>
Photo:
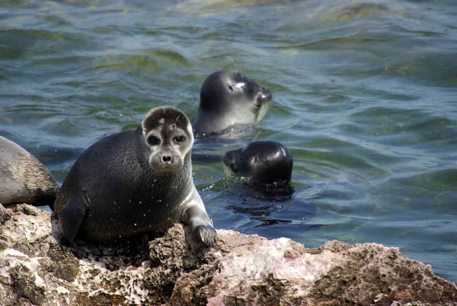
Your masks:
<svg viewBox="0 0 457 306"><path fill-rule="evenodd" d="M87 213L88 205L85 200L78 197L78 199L69 199L67 204L60 209L58 213L58 223L60 230L65 239L73 242L74 237L78 233L81 224L84 221Z"/></svg>

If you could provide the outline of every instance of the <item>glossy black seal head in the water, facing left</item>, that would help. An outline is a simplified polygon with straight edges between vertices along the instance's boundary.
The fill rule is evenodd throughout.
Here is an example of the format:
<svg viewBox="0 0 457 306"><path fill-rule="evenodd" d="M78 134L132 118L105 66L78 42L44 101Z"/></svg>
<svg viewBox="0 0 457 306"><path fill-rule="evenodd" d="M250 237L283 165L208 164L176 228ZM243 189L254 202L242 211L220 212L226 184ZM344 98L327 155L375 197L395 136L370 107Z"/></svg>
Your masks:
<svg viewBox="0 0 457 306"><path fill-rule="evenodd" d="M234 172L255 183L271 184L291 181L293 159L287 147L279 142L254 141L226 152L223 166L226 174Z"/></svg>

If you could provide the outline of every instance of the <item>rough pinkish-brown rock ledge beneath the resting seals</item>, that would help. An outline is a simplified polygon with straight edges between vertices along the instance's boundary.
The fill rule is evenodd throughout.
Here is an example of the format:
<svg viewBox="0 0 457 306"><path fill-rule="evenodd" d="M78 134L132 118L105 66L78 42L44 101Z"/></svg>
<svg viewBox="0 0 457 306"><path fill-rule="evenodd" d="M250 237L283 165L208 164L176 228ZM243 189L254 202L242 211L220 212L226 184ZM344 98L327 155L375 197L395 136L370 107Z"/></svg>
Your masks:
<svg viewBox="0 0 457 306"><path fill-rule="evenodd" d="M50 212L0 205L0 305L456 305L457 287L395 247L308 249L218 230L211 249L176 224L111 246L63 240ZM155 238L155 239L154 239Z"/></svg>

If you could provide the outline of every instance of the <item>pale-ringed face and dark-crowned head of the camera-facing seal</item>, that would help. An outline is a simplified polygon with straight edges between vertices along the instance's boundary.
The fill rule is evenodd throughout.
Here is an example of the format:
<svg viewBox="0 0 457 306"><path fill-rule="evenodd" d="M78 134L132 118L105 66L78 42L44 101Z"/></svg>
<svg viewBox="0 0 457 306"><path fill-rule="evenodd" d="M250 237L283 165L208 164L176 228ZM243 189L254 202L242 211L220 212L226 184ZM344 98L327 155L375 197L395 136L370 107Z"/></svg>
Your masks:
<svg viewBox="0 0 457 306"><path fill-rule="evenodd" d="M156 107L141 125L144 143L150 149L146 156L151 168L160 174L181 169L194 142L186 115L175 107Z"/></svg>

